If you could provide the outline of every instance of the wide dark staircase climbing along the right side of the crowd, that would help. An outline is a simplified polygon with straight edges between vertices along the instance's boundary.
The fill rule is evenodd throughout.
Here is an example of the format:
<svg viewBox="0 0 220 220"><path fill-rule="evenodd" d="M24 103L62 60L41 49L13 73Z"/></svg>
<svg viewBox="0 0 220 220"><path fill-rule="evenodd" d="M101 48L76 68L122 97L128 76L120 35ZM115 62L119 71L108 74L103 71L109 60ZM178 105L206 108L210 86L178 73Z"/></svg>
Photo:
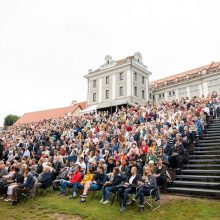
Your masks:
<svg viewBox="0 0 220 220"><path fill-rule="evenodd" d="M220 198L220 119L215 119L168 192Z"/></svg>

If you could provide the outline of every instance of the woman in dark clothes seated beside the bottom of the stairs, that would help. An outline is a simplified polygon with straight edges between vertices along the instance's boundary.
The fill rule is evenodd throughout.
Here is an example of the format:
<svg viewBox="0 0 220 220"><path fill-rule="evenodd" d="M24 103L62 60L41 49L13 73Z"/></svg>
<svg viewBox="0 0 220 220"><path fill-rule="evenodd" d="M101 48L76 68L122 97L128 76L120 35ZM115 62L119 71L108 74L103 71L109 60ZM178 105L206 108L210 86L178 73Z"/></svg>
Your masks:
<svg viewBox="0 0 220 220"><path fill-rule="evenodd" d="M166 192L167 190L167 176L166 176L166 165L163 164L162 158L159 158L157 166L155 168L155 177L157 178L157 183L162 186L162 189Z"/></svg>

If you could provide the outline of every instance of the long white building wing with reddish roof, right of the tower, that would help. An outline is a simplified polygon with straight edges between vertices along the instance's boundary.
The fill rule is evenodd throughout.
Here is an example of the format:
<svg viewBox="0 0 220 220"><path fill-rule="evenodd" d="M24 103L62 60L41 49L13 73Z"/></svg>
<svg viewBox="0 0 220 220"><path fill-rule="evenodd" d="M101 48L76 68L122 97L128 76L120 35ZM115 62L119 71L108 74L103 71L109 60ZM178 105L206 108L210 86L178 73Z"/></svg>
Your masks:
<svg viewBox="0 0 220 220"><path fill-rule="evenodd" d="M206 97L213 92L220 94L220 62L153 81L149 91L150 100L157 103L181 97Z"/></svg>

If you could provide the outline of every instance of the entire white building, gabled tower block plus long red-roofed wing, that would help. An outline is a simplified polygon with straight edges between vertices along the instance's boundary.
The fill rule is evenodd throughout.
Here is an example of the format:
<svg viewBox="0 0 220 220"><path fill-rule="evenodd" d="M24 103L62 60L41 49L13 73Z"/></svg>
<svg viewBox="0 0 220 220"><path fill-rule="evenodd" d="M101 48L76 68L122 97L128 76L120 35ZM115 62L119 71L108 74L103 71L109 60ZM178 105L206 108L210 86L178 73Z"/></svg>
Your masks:
<svg viewBox="0 0 220 220"><path fill-rule="evenodd" d="M149 85L150 75L139 52L118 61L108 55L99 69L90 69L85 76L88 80L88 106L103 109L207 96L213 92L220 94L220 62L165 77Z"/></svg>

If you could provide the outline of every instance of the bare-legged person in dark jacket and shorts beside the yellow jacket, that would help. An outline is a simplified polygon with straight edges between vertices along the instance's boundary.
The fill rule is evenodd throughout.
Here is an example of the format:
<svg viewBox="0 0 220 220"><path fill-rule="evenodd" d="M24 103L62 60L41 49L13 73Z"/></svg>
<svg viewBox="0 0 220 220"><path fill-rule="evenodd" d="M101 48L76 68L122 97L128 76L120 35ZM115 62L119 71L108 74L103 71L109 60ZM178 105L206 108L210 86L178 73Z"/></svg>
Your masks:
<svg viewBox="0 0 220 220"><path fill-rule="evenodd" d="M104 173L104 167L98 166L93 181L87 181L86 184L84 185L83 194L81 195L81 202L86 201L87 193L89 190L92 191L100 190L103 187L104 183L106 182L106 179L107 176Z"/></svg>

